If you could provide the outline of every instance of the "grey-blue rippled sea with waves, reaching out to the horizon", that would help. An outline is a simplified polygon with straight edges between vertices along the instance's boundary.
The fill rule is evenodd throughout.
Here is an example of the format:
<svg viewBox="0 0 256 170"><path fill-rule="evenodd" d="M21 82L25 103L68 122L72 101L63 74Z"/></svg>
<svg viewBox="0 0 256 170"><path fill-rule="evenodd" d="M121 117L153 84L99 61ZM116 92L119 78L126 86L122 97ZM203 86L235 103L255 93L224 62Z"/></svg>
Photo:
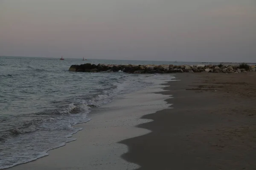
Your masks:
<svg viewBox="0 0 256 170"><path fill-rule="evenodd" d="M0 169L47 156L76 140L73 125L117 96L154 85L160 74L82 73L71 65L201 64L198 62L0 57Z"/></svg>

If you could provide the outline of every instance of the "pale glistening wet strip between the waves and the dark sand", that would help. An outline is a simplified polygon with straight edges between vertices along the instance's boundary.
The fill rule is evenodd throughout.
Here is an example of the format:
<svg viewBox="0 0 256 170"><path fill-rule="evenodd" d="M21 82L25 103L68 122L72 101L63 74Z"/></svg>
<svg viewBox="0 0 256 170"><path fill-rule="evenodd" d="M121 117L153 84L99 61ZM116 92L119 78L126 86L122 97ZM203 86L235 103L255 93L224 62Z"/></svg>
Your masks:
<svg viewBox="0 0 256 170"><path fill-rule="evenodd" d="M166 79L165 77L171 78L172 76L161 75L159 77ZM75 125L75 127L83 128L72 136L72 138L76 138L75 141L49 150L48 156L11 167L8 170L137 168L137 164L121 159L120 156L128 149L125 145L117 142L150 132L135 126L149 121L140 119L144 114L169 107L169 104L164 102L169 96L152 93L161 91L161 87L164 86L155 85L141 91L121 95L107 105L94 108L89 122Z"/></svg>

